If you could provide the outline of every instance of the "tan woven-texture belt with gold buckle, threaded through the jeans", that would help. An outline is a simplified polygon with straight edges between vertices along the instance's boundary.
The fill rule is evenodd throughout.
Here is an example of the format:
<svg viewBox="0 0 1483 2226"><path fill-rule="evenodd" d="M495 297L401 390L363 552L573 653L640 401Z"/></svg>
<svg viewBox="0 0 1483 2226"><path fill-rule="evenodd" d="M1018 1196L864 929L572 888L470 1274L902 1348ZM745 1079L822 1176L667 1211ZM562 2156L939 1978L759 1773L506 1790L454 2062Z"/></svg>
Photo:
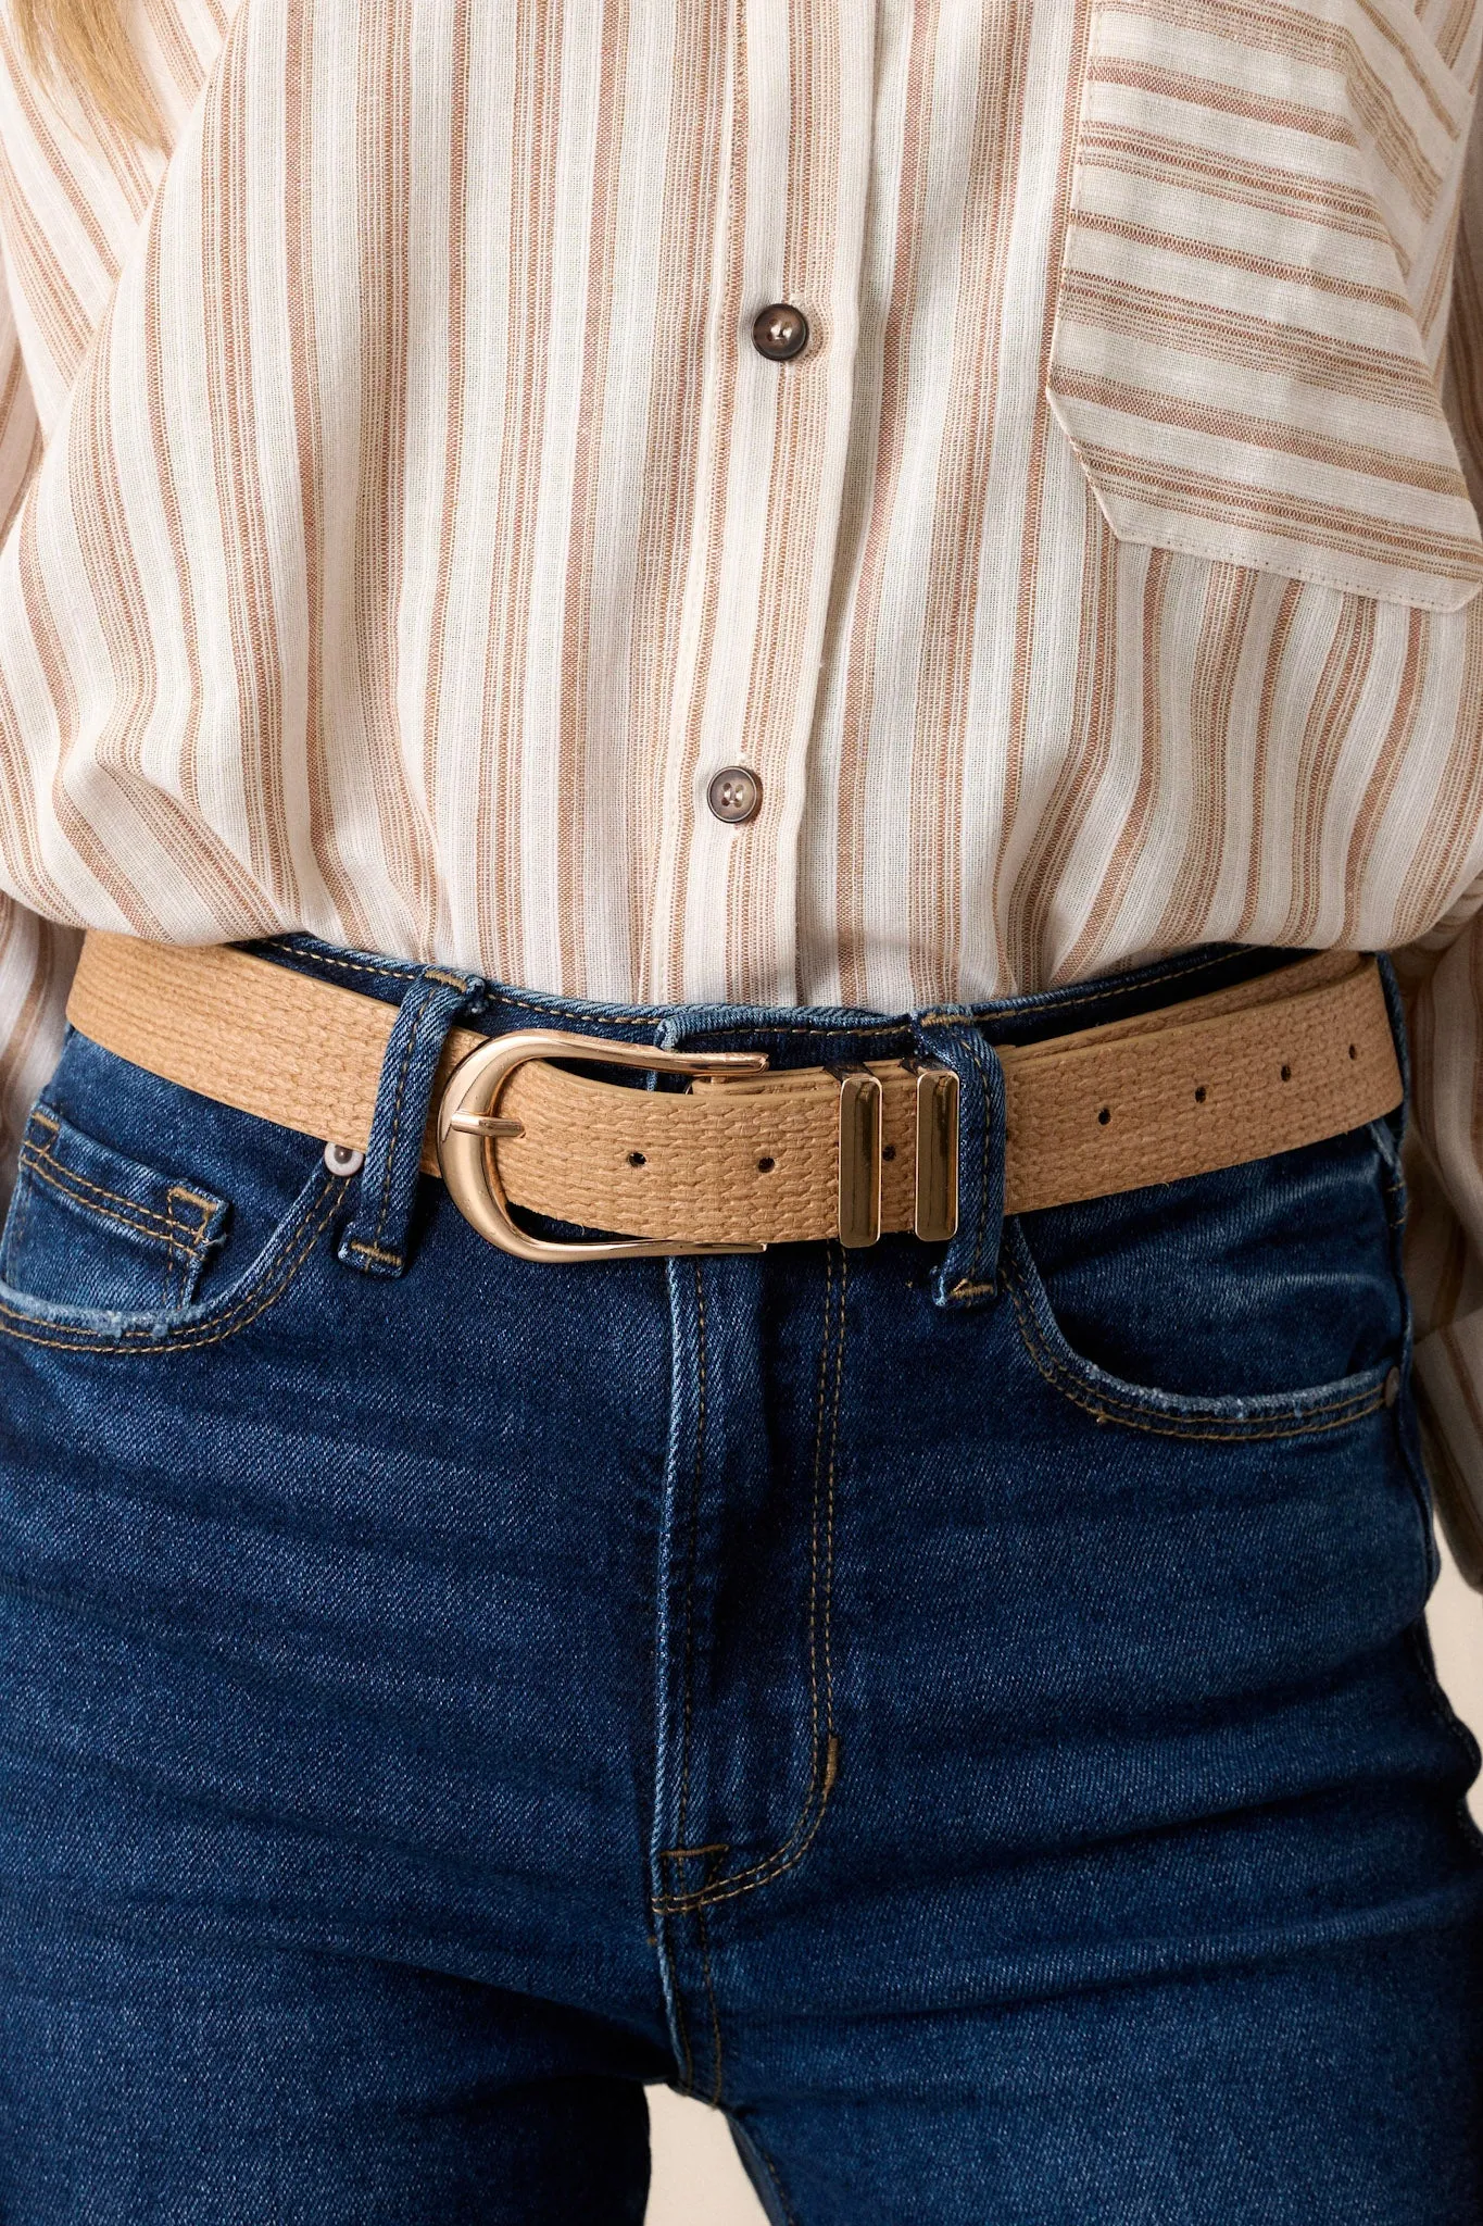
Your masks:
<svg viewBox="0 0 1483 2226"><path fill-rule="evenodd" d="M365 1151L394 1008L242 951L89 935L67 1015L165 1082ZM1401 1102L1374 959L1323 953L1236 988L1052 1042L1001 1046L1005 1211L1241 1166ZM687 1091L554 1060L680 1071ZM454 1031L422 1164L527 1258L754 1249L880 1231L952 1235L958 1077L872 1060L772 1073L758 1055L663 1053L549 1031ZM623 1244L551 1244L527 1206Z"/></svg>

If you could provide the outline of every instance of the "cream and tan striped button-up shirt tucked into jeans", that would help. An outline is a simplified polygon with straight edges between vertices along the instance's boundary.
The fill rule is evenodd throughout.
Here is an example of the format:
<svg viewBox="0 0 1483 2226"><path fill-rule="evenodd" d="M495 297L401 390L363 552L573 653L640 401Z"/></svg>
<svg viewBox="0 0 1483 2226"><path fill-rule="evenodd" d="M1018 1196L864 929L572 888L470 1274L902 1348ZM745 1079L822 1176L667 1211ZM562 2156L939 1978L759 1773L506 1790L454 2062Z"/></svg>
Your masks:
<svg viewBox="0 0 1483 2226"><path fill-rule="evenodd" d="M136 33L169 158L0 69L11 1131L42 922L880 1008L1410 946L1483 1509L1481 0Z"/></svg>

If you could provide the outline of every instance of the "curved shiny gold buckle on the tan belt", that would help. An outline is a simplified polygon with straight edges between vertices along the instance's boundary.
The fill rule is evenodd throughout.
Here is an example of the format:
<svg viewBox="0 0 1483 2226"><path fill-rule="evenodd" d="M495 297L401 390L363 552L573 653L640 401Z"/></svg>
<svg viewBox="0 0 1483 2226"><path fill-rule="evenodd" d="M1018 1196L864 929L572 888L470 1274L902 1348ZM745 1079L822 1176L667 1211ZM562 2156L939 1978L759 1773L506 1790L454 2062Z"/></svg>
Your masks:
<svg viewBox="0 0 1483 2226"><path fill-rule="evenodd" d="M756 1075L767 1066L765 1051L654 1051L649 1044L614 1044L605 1035L567 1035L560 1028L491 1035L458 1062L438 1104L438 1166L449 1198L482 1238L516 1260L543 1262L765 1251L763 1244L671 1244L663 1238L578 1238L565 1244L516 1227L494 1146L502 1135L525 1133L518 1120L500 1117L500 1093L531 1060L587 1060L658 1075Z"/></svg>

